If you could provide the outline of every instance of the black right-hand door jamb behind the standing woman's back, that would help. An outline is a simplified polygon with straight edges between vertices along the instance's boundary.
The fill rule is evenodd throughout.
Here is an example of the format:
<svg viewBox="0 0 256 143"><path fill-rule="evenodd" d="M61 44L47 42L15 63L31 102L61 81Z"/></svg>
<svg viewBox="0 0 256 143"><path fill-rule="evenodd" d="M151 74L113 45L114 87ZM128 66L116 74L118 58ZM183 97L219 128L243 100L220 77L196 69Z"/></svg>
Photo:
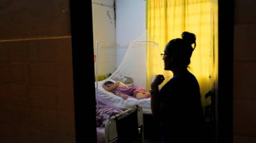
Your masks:
<svg viewBox="0 0 256 143"><path fill-rule="evenodd" d="M218 0L218 19L219 71L215 104L216 139L217 143L233 143L234 1Z"/></svg>

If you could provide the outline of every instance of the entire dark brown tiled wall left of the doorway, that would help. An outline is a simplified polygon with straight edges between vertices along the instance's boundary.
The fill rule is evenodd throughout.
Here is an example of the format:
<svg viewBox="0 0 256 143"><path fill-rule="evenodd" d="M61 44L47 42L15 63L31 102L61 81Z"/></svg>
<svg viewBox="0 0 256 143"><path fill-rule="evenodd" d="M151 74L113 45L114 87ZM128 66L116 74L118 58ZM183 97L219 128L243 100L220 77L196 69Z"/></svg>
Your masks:
<svg viewBox="0 0 256 143"><path fill-rule="evenodd" d="M0 142L75 143L69 0L3 0Z"/></svg>

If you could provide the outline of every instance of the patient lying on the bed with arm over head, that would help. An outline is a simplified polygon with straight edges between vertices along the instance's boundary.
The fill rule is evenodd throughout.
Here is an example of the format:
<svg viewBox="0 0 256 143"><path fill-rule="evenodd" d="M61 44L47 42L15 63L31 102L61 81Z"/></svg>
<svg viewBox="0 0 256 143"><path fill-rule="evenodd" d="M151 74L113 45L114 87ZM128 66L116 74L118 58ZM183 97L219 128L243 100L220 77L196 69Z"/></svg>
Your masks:
<svg viewBox="0 0 256 143"><path fill-rule="evenodd" d="M102 84L106 91L111 91L115 95L122 97L124 100L127 98L136 98L138 100L150 98L151 95L144 88L140 86L128 87L124 83L117 81L113 83L112 81L106 81Z"/></svg>

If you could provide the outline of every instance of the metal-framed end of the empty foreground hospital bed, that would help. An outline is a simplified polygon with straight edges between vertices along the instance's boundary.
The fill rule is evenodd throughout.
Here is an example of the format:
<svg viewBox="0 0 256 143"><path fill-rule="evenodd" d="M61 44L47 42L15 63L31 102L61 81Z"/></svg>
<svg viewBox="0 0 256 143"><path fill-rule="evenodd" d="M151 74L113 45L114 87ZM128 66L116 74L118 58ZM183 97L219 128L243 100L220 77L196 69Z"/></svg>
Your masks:
<svg viewBox="0 0 256 143"><path fill-rule="evenodd" d="M132 142L141 135L144 143L143 111L140 105L108 119L105 128L97 128L98 143Z"/></svg>

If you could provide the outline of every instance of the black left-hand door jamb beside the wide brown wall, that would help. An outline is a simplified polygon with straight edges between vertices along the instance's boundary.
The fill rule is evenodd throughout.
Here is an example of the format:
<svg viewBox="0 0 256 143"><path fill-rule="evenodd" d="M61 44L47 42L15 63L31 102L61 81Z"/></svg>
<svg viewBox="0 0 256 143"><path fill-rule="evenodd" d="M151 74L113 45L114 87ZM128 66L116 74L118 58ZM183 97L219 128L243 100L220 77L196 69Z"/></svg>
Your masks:
<svg viewBox="0 0 256 143"><path fill-rule="evenodd" d="M92 1L69 0L69 3L76 143L96 143Z"/></svg>

